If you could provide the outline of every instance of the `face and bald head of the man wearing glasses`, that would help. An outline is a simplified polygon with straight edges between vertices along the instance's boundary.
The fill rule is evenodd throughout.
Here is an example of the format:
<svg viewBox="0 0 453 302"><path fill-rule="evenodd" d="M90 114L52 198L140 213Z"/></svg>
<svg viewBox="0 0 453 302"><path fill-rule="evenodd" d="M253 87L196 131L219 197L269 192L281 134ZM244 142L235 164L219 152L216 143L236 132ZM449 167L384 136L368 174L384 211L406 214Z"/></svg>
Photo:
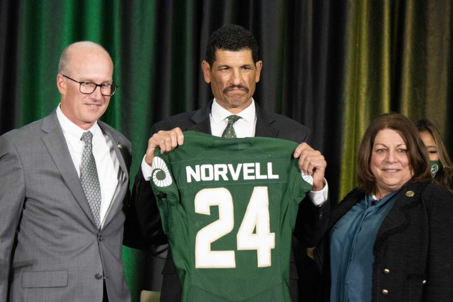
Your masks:
<svg viewBox="0 0 453 302"><path fill-rule="evenodd" d="M68 77L79 82L112 83L113 63L109 54L93 43L76 43L71 46L67 70ZM61 111L74 124L84 130L91 128L104 114L110 96L103 96L100 87L92 94L80 92L80 84L57 75L61 93Z"/></svg>

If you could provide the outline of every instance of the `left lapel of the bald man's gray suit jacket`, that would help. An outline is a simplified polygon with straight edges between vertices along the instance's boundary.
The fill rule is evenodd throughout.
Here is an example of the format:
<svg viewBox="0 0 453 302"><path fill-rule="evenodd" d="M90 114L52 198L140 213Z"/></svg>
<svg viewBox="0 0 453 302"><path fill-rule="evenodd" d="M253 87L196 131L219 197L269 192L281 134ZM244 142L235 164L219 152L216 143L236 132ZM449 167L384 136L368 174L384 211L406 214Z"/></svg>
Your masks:
<svg viewBox="0 0 453 302"><path fill-rule="evenodd" d="M43 135L41 139L47 148L47 152L55 163L55 166L60 172L61 177L66 183L66 186L74 196L74 199L79 203L85 215L90 219L92 224L96 226L87 197L85 196L79 176L77 175L77 170L75 170L71 160L66 139L64 138L55 111L43 119L41 129L47 133L46 135Z"/></svg>

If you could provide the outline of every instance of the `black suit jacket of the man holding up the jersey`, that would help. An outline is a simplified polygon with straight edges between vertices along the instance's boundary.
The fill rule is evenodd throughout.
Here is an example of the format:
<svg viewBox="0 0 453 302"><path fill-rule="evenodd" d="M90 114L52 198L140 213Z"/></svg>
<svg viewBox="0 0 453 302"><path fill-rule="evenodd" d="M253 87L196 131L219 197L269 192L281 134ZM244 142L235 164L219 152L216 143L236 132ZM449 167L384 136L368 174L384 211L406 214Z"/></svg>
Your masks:
<svg viewBox="0 0 453 302"><path fill-rule="evenodd" d="M181 113L158 122L151 129L151 135L160 130L170 130L175 127L180 127L183 131L194 130L210 134L209 113L211 105L212 102L200 110ZM307 139L309 135L307 127L285 116L268 113L256 103L255 106L257 114L255 136L275 137L292 140L297 143ZM317 238L319 238L319 236L316 236L320 235L320 232L315 235L315 230L318 231L325 228L328 211L328 201L321 208L315 207L308 198L300 203L300 215L297 217L294 235L302 244L308 247L315 245ZM326 212L326 215L323 215L324 212ZM140 230L139 232L137 232L137 228ZM146 248L153 245L152 250L156 251L160 247L159 244L166 242L151 186L149 182L144 180L141 169L139 169L135 177L129 213L126 217L124 244L132 248ZM161 300L180 301L181 285L176 275L176 268L171 259L170 251L162 273L164 274L164 279L161 289ZM293 260L290 266L290 279L291 297L296 300L297 272Z"/></svg>

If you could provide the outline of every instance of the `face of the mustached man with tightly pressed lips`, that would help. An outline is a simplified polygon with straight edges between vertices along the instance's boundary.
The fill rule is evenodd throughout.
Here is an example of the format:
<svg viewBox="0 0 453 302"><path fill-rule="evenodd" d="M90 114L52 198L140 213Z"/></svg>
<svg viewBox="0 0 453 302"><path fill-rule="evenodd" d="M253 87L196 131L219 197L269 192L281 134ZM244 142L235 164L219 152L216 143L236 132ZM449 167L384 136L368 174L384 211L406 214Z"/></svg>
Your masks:
<svg viewBox="0 0 453 302"><path fill-rule="evenodd" d="M212 66L203 61L204 80L211 84L217 103L237 114L252 102L256 83L260 80L262 61L253 62L252 51L217 49Z"/></svg>

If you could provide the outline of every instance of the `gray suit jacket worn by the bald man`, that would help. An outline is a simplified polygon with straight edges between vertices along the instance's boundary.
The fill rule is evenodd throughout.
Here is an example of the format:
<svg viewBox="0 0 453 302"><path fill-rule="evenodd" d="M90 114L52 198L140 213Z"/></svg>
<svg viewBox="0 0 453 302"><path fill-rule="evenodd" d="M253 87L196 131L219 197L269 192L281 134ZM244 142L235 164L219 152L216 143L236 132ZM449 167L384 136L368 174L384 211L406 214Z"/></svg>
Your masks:
<svg viewBox="0 0 453 302"><path fill-rule="evenodd" d="M110 301L130 301L121 254L131 145L98 123L120 163L101 231L55 111L0 136L0 301L102 301L104 278Z"/></svg>

